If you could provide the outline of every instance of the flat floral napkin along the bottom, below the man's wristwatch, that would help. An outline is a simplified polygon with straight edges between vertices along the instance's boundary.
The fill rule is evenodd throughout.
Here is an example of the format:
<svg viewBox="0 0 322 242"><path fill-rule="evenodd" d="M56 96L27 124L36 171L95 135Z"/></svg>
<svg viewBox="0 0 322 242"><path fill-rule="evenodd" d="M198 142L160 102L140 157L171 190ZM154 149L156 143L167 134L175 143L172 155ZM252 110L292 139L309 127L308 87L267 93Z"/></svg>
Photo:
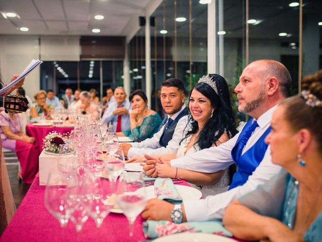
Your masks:
<svg viewBox="0 0 322 242"><path fill-rule="evenodd" d="M143 233L146 238L156 238L174 233L201 232L219 234L232 237L232 234L223 227L221 221L186 222L176 224L170 221L143 222Z"/></svg>

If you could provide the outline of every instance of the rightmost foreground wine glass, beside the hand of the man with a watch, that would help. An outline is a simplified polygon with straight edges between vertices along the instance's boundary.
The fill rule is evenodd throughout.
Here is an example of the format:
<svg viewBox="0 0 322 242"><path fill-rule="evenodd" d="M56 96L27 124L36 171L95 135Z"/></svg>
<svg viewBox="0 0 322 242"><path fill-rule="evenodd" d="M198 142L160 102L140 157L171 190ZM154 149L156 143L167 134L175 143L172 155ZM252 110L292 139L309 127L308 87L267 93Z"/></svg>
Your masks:
<svg viewBox="0 0 322 242"><path fill-rule="evenodd" d="M135 192L141 187L140 192ZM123 210L130 225L130 237L133 236L133 224L146 204L146 192L141 173L123 172L120 175L116 192L116 203Z"/></svg>

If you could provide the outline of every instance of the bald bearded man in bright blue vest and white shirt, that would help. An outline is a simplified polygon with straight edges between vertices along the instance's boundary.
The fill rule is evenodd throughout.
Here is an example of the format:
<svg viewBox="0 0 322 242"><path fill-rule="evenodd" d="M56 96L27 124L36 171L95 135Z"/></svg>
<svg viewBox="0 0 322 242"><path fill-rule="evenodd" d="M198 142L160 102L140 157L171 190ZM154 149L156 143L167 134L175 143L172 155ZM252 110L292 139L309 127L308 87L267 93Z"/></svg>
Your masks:
<svg viewBox="0 0 322 242"><path fill-rule="evenodd" d="M151 199L147 201L143 218L175 222L222 219L224 210L235 199L254 191L278 173L280 166L271 162L270 148L264 139L270 132L270 121L276 105L285 99L291 76L279 62L264 59L248 65L235 88L238 110L253 118L233 138L219 146L210 147L167 162L171 167L211 173L235 163L229 190L198 201L184 201L181 206ZM149 158L149 157L147 157ZM155 160L147 160L146 175L156 176ZM181 215L181 216L179 216Z"/></svg>

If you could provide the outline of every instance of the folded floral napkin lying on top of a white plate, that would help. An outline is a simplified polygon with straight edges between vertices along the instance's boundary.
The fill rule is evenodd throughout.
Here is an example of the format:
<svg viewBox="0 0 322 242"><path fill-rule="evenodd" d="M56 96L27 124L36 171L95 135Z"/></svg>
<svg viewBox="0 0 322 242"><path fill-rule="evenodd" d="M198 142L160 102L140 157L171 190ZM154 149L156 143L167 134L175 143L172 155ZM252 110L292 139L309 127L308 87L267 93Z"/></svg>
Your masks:
<svg viewBox="0 0 322 242"><path fill-rule="evenodd" d="M156 198L169 203L182 203L182 199L171 178L157 177L154 181L154 194Z"/></svg>

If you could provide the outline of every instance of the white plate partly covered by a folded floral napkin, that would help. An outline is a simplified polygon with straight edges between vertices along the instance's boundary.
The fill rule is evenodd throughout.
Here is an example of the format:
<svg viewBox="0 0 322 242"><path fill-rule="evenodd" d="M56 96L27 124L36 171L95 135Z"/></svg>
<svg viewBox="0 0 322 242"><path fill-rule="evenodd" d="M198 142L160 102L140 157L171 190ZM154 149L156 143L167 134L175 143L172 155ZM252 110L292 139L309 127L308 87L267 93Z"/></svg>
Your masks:
<svg viewBox="0 0 322 242"><path fill-rule="evenodd" d="M202 193L198 189L181 185L175 185L175 187L183 201L199 200L202 197ZM154 186L139 188L136 190L136 193L140 194L144 189L146 192L146 199L155 198Z"/></svg>

